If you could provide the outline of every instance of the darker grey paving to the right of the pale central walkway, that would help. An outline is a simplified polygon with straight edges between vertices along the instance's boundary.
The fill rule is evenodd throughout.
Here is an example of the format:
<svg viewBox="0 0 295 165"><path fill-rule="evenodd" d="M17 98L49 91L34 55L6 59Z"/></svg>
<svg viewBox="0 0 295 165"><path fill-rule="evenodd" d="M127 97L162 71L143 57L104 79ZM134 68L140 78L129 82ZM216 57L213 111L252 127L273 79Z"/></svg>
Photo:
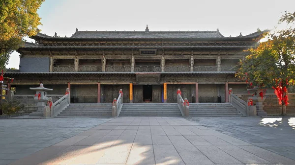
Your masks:
<svg viewBox="0 0 295 165"><path fill-rule="evenodd" d="M189 118L271 152L295 159L295 118Z"/></svg>

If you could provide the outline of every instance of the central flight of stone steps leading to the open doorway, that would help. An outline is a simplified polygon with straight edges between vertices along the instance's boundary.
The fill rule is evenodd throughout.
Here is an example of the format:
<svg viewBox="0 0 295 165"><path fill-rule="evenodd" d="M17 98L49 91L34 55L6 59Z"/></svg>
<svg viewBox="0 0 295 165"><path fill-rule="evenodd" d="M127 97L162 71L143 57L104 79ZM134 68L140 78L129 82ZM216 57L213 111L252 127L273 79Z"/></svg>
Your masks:
<svg viewBox="0 0 295 165"><path fill-rule="evenodd" d="M179 117L181 113L177 104L139 103L123 104L120 117Z"/></svg>

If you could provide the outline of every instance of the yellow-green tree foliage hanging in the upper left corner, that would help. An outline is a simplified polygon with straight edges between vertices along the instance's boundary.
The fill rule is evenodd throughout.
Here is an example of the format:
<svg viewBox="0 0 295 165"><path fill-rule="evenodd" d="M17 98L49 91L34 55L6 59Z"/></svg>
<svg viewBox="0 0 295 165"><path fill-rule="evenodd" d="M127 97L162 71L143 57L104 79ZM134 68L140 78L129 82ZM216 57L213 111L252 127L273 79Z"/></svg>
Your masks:
<svg viewBox="0 0 295 165"><path fill-rule="evenodd" d="M41 24L37 9L44 0L0 0L0 69L23 37L36 35Z"/></svg>

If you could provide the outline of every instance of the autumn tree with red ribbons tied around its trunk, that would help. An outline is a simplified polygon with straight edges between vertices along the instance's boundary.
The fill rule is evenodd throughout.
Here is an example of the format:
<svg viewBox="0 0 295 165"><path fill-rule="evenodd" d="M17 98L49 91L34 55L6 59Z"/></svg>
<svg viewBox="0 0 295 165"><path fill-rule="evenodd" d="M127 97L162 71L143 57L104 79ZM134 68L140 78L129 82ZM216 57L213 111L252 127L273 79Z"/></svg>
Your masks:
<svg viewBox="0 0 295 165"><path fill-rule="evenodd" d="M295 85L295 12L286 11L278 23L287 28L265 33L268 40L248 50L236 76L250 87L273 88L286 115L288 88Z"/></svg>

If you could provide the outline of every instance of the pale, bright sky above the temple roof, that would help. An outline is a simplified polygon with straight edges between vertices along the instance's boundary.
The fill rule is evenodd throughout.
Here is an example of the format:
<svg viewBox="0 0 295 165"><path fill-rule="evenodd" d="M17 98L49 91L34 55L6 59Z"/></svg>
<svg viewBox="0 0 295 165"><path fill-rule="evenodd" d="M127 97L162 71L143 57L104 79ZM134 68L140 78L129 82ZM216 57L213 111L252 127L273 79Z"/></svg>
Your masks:
<svg viewBox="0 0 295 165"><path fill-rule="evenodd" d="M197 31L219 28L225 37L273 29L295 0L46 0L38 10L41 33L70 37L79 30ZM28 40L32 41L31 39ZM19 53L6 68L19 69Z"/></svg>

